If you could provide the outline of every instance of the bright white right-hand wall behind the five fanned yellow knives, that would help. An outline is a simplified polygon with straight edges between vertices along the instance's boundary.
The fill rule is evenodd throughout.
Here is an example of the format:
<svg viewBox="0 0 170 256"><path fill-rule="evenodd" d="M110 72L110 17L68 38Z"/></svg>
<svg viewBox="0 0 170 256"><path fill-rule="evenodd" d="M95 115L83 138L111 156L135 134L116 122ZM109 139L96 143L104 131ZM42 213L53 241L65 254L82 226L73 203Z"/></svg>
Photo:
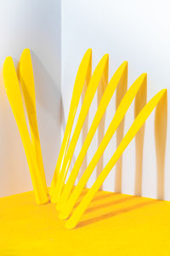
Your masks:
<svg viewBox="0 0 170 256"><path fill-rule="evenodd" d="M62 75L61 91L65 118L71 102L71 92L82 55L93 49L93 70L102 55L110 55L110 79L122 61L128 61L128 87L141 73L148 73L148 99L158 90L167 88L169 100L170 3L151 0L64 0L61 13ZM94 109L96 108L94 102ZM107 111L107 122L115 111L115 98ZM90 110L94 115L94 110ZM170 199L170 137L167 118L167 156L165 168L165 198ZM133 121L133 106L126 116L125 131ZM115 139L105 154L105 162L113 153ZM81 142L77 147L80 150ZM96 148L88 153L88 161ZM133 194L135 176L135 143L123 154L122 192ZM106 160L107 157L107 160ZM115 170L115 168L114 168ZM114 171L113 170L113 171ZM115 174L105 182L105 189L114 191ZM95 174L91 179L94 181ZM156 197L156 151L154 113L145 126L143 195Z"/></svg>

